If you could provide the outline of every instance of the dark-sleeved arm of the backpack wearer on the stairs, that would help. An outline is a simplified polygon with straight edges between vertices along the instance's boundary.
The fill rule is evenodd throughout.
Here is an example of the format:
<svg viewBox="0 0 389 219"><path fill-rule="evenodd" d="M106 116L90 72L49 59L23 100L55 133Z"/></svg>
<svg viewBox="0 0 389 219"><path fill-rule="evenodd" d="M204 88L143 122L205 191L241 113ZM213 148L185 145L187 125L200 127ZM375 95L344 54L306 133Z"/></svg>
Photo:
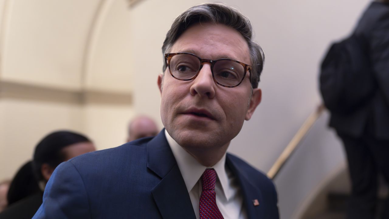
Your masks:
<svg viewBox="0 0 389 219"><path fill-rule="evenodd" d="M378 87L389 104L389 13L378 20L369 42L370 59Z"/></svg>

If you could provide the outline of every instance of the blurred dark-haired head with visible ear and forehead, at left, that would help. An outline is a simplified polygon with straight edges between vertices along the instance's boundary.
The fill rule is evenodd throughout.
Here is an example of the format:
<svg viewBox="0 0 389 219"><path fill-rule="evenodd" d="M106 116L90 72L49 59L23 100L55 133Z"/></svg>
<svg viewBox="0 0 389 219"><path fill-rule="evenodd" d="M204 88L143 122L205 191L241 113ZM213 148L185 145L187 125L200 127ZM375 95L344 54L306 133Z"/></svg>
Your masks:
<svg viewBox="0 0 389 219"><path fill-rule="evenodd" d="M46 183L61 162L95 150L92 141L82 134L72 131L52 132L35 148L33 156L35 175L38 181Z"/></svg>

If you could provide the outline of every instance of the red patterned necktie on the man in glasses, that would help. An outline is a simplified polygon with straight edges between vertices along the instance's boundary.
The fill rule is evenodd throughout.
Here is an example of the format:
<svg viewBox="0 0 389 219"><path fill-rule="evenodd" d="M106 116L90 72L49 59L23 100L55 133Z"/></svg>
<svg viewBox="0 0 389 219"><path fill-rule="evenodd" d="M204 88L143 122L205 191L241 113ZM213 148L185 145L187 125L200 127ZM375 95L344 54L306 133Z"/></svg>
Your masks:
<svg viewBox="0 0 389 219"><path fill-rule="evenodd" d="M200 219L223 219L219 208L216 205L216 171L207 169L201 176L203 191L200 196Z"/></svg>

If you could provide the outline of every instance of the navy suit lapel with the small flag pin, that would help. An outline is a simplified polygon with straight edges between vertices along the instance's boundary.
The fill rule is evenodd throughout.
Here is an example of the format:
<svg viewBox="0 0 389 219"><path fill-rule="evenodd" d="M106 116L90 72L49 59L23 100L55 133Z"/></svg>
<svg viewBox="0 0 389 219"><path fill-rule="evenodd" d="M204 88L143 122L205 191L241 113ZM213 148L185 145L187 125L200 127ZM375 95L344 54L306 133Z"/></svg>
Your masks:
<svg viewBox="0 0 389 219"><path fill-rule="evenodd" d="M264 218L265 203L263 203L263 198L261 191L259 190L259 185L252 184L252 181L249 180L249 177L245 175L245 171L241 170L235 159L230 154L226 156L226 165L233 172L235 177L238 178L240 189L242 189L243 195L243 205L247 212L247 217L249 219L258 219ZM254 205L258 201L259 205Z"/></svg>

